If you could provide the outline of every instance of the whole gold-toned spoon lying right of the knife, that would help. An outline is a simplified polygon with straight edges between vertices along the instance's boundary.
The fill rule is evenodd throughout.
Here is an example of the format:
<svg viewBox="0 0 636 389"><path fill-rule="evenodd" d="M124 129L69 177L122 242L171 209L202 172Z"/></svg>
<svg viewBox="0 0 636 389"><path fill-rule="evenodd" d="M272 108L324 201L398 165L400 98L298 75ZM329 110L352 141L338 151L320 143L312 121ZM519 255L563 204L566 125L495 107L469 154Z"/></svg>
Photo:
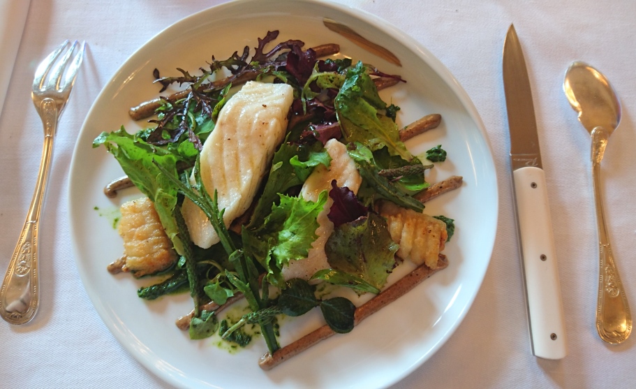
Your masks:
<svg viewBox="0 0 636 389"><path fill-rule="evenodd" d="M565 72L563 91L579 112L579 122L592 135L592 179L599 244L598 304L596 330L607 343L619 344L632 331L629 304L609 246L600 191L600 161L609 135L621 122L621 103L609 81L592 66L574 62Z"/></svg>

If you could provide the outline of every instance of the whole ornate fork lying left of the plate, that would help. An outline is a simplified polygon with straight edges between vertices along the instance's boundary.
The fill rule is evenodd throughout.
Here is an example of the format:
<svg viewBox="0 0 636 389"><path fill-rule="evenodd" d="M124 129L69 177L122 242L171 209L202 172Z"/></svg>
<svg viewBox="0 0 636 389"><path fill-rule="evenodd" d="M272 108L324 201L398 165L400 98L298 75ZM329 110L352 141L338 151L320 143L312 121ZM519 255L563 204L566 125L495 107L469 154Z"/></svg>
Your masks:
<svg viewBox="0 0 636 389"><path fill-rule="evenodd" d="M17 240L13 257L0 288L0 316L11 324L24 324L36 315L40 301L38 281L38 240L40 210L53 152L57 122L71 94L84 43L65 41L36 69L31 98L44 124L44 146L36 189L27 220Z"/></svg>

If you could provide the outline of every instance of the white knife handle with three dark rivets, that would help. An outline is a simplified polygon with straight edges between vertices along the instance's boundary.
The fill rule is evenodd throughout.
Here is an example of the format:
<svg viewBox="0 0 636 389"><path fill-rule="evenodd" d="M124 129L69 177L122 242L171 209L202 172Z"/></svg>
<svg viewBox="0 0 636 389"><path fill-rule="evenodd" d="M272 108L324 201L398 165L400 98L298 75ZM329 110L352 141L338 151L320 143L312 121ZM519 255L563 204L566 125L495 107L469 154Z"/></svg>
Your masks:
<svg viewBox="0 0 636 389"><path fill-rule="evenodd" d="M567 353L567 337L545 175L540 168L527 167L513 171L512 177L532 353L561 359Z"/></svg>

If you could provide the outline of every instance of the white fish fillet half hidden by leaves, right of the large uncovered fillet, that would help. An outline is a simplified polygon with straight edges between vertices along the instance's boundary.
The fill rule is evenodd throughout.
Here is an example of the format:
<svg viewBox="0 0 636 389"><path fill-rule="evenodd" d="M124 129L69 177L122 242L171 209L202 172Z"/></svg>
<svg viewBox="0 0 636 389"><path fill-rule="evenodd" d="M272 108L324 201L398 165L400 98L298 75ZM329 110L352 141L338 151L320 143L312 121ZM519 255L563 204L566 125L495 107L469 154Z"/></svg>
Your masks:
<svg viewBox="0 0 636 389"><path fill-rule="evenodd" d="M332 189L331 182L336 180L340 187L347 186L353 193L357 193L362 183L362 177L355 168L355 162L347 154L347 147L341 142L331 139L325 144L325 149L332 157L329 168L319 165L313 170L311 175L307 177L300 191L300 196L305 200L316 201L320 192L330 191ZM334 203L334 200L327 198L325 207L318 214L318 224L316 230L318 238L311 244L309 255L305 259L290 260L289 265L283 267L283 278L293 279L302 278L309 279L315 272L330 267L327 263L327 255L325 254L325 243L330 235L334 232L334 223L329 220L327 214Z"/></svg>

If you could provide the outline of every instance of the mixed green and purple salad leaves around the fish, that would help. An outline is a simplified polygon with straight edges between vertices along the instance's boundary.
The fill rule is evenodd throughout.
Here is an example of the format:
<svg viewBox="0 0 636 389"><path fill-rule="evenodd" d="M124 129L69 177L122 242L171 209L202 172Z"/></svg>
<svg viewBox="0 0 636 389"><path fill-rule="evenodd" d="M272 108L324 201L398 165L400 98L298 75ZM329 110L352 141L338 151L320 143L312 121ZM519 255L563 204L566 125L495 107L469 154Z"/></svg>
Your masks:
<svg viewBox="0 0 636 389"><path fill-rule="evenodd" d="M155 299L176 291L189 291L194 315L191 339L219 333L223 338L246 344L241 326L258 324L270 353L280 348L274 325L276 315L299 316L320 307L335 332L353 329L355 305L346 298L316 298L309 281L284 281L281 271L290 260L306 258L316 240L316 218L327 198L332 198L329 219L334 223L325 251L330 269L313 279L353 288L357 293L379 293L398 265L398 245L387 223L374 210L378 200L422 212L424 205L413 198L429 184L423 165L399 138L395 122L399 107L387 105L378 95L374 78L395 78L369 64L351 59L318 59L302 41L284 41L271 50L265 47L278 36L269 31L258 39L250 57L249 47L228 59L212 57L207 68L192 75L179 69L177 77L154 76L163 89L187 85L188 94L177 101L163 100L151 127L127 133L122 127L101 133L93 147L103 145L119 161L124 173L154 203L172 244L177 263L162 274L168 279L140 288L140 298ZM206 191L200 179L199 155L214 131L223 105L244 80L284 82L294 89L294 103L285 141L274 154L246 222L236 229L223 223L215 192ZM162 89L162 91L163 91ZM299 188L317 166L330 166L327 140L346 145L362 176L357 194L333 183L313 202L299 197ZM431 149L432 161L443 161L440 147ZM193 182L191 177L194 177ZM184 198L205 212L221 241L209 249L195 246L182 216ZM452 233L452 220L445 221ZM209 302L223 305L243 295L250 312L236 323L219 323L214 311L201 307Z"/></svg>

